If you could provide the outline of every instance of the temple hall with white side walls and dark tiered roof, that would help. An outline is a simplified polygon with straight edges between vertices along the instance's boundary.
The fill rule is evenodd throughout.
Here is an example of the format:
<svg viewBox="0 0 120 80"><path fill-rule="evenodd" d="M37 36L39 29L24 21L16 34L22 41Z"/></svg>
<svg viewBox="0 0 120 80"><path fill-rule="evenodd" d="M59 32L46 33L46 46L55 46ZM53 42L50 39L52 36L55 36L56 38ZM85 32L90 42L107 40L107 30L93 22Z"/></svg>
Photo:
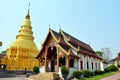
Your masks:
<svg viewBox="0 0 120 80"><path fill-rule="evenodd" d="M101 70L102 58L90 45L74 38L70 34L49 28L42 48L36 57L40 72L59 72L65 65L69 72L74 70Z"/></svg>

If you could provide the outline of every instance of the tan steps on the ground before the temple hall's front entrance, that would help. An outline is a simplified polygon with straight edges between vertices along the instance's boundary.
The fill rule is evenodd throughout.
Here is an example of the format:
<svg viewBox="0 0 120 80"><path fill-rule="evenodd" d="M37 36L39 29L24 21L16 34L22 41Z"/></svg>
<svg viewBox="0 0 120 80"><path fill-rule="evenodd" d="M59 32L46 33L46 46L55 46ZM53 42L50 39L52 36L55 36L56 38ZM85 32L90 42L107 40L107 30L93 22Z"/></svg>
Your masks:
<svg viewBox="0 0 120 80"><path fill-rule="evenodd" d="M30 80L63 80L56 72L39 73L29 77Z"/></svg>

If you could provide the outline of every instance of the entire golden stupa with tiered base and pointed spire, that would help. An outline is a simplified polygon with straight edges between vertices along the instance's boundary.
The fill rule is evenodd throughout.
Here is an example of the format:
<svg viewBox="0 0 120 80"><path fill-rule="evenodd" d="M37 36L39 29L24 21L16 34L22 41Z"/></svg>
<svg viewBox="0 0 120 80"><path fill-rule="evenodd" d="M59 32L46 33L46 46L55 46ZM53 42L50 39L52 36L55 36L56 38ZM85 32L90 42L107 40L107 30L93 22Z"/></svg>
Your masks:
<svg viewBox="0 0 120 80"><path fill-rule="evenodd" d="M39 50L34 42L29 9L16 40L6 51L2 64L6 64L7 70L32 70L38 66L35 58Z"/></svg>

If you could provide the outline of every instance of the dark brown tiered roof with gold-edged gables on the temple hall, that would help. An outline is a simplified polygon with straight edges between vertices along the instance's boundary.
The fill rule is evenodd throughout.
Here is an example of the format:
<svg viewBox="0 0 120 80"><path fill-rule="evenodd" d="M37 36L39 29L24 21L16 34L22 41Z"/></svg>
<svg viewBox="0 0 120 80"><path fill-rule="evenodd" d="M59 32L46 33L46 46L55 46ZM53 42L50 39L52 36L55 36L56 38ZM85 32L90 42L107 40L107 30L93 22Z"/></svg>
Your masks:
<svg viewBox="0 0 120 80"><path fill-rule="evenodd" d="M76 54L73 53L72 50L74 50L75 52L77 52L77 54L84 54L84 55L102 59L95 53L95 51L90 47L90 45L74 38L73 36L64 32L61 29L59 30L59 32L56 32L50 28L48 35L42 45L43 47L46 45L47 39L49 38L50 35L58 43L58 46L62 50L64 50L64 52L66 52L66 54L69 56L79 58ZM42 50L43 49L41 49L41 51ZM41 51L36 58L38 58L41 55Z"/></svg>

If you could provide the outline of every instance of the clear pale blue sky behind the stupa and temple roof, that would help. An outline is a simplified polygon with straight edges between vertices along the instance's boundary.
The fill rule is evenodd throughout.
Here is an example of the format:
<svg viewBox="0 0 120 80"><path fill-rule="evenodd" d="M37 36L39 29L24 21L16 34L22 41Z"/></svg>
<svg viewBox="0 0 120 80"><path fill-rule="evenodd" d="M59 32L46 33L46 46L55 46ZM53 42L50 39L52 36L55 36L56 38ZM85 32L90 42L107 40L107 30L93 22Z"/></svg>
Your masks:
<svg viewBox="0 0 120 80"><path fill-rule="evenodd" d="M38 49L49 24L88 43L96 51L110 48L112 57L120 51L120 0L31 0L30 15L33 36ZM1 50L15 40L28 10L29 0L0 2Z"/></svg>

